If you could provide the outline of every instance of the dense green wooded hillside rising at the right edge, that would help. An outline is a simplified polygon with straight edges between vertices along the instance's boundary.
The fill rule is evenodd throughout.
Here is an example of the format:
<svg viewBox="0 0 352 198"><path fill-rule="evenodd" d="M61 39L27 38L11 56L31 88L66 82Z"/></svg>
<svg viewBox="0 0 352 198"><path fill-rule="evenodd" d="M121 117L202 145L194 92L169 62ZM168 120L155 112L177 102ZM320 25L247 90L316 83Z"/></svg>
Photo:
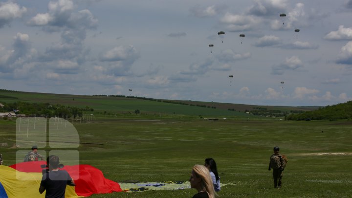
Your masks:
<svg viewBox="0 0 352 198"><path fill-rule="evenodd" d="M287 120L338 120L352 118L352 101L337 105L326 106L318 110L306 111L299 114L290 114Z"/></svg>

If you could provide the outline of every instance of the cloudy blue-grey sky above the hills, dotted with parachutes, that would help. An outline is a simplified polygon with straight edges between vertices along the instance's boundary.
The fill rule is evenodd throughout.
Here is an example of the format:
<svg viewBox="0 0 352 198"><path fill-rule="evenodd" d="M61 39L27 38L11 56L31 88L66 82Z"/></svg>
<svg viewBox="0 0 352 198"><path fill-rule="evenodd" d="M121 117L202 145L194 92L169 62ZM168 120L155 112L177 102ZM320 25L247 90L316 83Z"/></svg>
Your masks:
<svg viewBox="0 0 352 198"><path fill-rule="evenodd" d="M0 88L334 105L351 19L352 0L0 0Z"/></svg>

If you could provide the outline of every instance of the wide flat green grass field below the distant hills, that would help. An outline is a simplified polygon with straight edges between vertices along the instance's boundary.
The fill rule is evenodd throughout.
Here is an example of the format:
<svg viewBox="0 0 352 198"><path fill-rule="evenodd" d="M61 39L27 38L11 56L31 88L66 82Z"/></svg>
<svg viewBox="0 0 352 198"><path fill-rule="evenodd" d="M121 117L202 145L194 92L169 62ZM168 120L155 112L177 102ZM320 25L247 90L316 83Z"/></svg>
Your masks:
<svg viewBox="0 0 352 198"><path fill-rule="evenodd" d="M0 121L4 165L16 163L15 121ZM186 181L194 164L213 157L222 198L351 197L352 122L176 117L96 117L74 123L82 144L81 164L102 170L114 181ZM323 131L323 132L322 132ZM95 143L95 144L87 144ZM283 188L273 188L267 170L272 148L289 158ZM194 189L112 193L91 198L191 198Z"/></svg>

